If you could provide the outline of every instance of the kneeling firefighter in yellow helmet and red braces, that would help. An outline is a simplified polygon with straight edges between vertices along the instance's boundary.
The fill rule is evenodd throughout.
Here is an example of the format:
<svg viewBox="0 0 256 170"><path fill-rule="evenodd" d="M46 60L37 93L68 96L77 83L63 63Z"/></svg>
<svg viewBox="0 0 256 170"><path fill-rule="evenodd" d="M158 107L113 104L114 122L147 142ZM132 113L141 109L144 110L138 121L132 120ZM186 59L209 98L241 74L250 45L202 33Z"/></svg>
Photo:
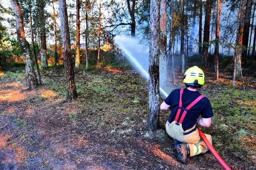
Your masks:
<svg viewBox="0 0 256 170"><path fill-rule="evenodd" d="M203 70L197 66L189 68L183 78L185 89L175 89L161 104L161 110L172 110L165 128L174 139L178 160L188 163L189 157L208 151L200 139L196 124L209 127L212 122L212 106L208 98L199 93L204 84ZM212 136L205 134L212 144Z"/></svg>

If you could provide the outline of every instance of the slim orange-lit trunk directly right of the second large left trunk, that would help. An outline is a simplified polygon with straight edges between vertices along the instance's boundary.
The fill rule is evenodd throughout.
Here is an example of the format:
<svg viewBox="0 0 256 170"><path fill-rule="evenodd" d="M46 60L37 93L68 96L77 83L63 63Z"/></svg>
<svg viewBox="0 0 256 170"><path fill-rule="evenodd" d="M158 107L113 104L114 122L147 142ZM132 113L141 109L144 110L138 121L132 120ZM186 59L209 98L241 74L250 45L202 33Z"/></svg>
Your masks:
<svg viewBox="0 0 256 170"><path fill-rule="evenodd" d="M80 67L80 0L76 0L75 67Z"/></svg>

